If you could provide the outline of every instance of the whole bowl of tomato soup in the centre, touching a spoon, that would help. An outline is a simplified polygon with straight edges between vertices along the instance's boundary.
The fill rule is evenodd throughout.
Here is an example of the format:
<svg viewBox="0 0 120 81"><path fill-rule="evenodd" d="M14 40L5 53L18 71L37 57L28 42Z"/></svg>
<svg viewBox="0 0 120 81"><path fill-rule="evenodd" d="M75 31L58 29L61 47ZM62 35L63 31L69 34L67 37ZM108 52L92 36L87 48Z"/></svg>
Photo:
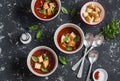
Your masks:
<svg viewBox="0 0 120 81"><path fill-rule="evenodd" d="M66 23L58 27L54 34L56 47L66 53L73 54L83 46L84 33L82 29L72 23Z"/></svg>

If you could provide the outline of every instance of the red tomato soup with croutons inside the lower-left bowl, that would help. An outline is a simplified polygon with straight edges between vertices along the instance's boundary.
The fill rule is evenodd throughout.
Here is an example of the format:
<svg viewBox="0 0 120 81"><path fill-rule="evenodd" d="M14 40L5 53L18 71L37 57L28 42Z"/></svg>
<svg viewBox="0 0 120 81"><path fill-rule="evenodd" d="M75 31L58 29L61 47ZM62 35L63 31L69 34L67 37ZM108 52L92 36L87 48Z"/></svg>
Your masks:
<svg viewBox="0 0 120 81"><path fill-rule="evenodd" d="M49 73L55 67L55 57L46 49L37 50L33 53L32 57L30 60L32 69L39 74ZM35 58L37 58L37 61L34 61Z"/></svg>

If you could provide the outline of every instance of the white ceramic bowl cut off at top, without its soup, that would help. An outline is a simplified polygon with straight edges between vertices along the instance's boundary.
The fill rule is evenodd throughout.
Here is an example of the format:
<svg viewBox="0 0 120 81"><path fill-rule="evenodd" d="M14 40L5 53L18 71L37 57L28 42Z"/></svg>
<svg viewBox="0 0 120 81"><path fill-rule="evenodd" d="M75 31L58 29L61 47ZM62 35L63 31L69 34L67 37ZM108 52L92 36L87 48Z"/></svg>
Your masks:
<svg viewBox="0 0 120 81"><path fill-rule="evenodd" d="M35 5L35 2L36 2L36 1L37 1L37 0L32 0L32 2L31 2L31 10L32 10L33 15L34 15L36 18L38 18L39 20L42 20L42 21L50 21L50 20L56 18L56 17L58 16L58 14L60 13L60 10L61 10L61 1L60 1L60 0L56 0L56 2L57 2L57 4L58 4L58 7L59 7L58 12L56 13L56 15L54 15L52 18L49 18L49 19L40 18L40 17L38 17L38 16L36 15L36 13L35 13L35 11L34 11L34 5Z"/></svg>

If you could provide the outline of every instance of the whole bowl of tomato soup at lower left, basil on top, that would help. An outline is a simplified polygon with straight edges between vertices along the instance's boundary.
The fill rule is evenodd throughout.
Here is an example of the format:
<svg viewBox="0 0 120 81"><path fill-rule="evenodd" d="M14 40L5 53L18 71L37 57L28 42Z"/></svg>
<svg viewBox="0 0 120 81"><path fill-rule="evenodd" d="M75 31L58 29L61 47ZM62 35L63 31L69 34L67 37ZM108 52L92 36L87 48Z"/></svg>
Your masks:
<svg viewBox="0 0 120 81"><path fill-rule="evenodd" d="M28 54L27 66L37 76L49 76L58 66L57 55L47 46L38 46Z"/></svg>

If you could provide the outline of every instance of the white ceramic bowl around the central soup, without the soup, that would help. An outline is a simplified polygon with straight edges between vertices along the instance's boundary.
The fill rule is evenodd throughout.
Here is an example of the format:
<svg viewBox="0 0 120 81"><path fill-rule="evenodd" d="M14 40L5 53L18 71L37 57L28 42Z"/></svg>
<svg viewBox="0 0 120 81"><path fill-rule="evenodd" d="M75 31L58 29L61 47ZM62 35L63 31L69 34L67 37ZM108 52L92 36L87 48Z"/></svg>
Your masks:
<svg viewBox="0 0 120 81"><path fill-rule="evenodd" d="M57 36L58 36L59 32L60 32L62 29L67 28L67 27L72 27L72 28L76 29L76 30L79 32L79 34L81 35L81 44L80 44L80 46L79 46L76 50L74 50L74 51L65 51L65 50L63 50L62 48L60 48L60 46L58 45L58 42L57 42ZM84 33L83 33L82 29L81 29L79 26L77 26L77 25L75 25L75 24L72 24L72 23L66 23L66 24L63 24L63 25L61 25L60 27L58 27L58 29L56 30L56 32L55 32L55 34L54 34L54 42L55 42L56 47L57 47L60 51L62 51L63 53L73 54L73 53L78 52L78 51L83 47Z"/></svg>

